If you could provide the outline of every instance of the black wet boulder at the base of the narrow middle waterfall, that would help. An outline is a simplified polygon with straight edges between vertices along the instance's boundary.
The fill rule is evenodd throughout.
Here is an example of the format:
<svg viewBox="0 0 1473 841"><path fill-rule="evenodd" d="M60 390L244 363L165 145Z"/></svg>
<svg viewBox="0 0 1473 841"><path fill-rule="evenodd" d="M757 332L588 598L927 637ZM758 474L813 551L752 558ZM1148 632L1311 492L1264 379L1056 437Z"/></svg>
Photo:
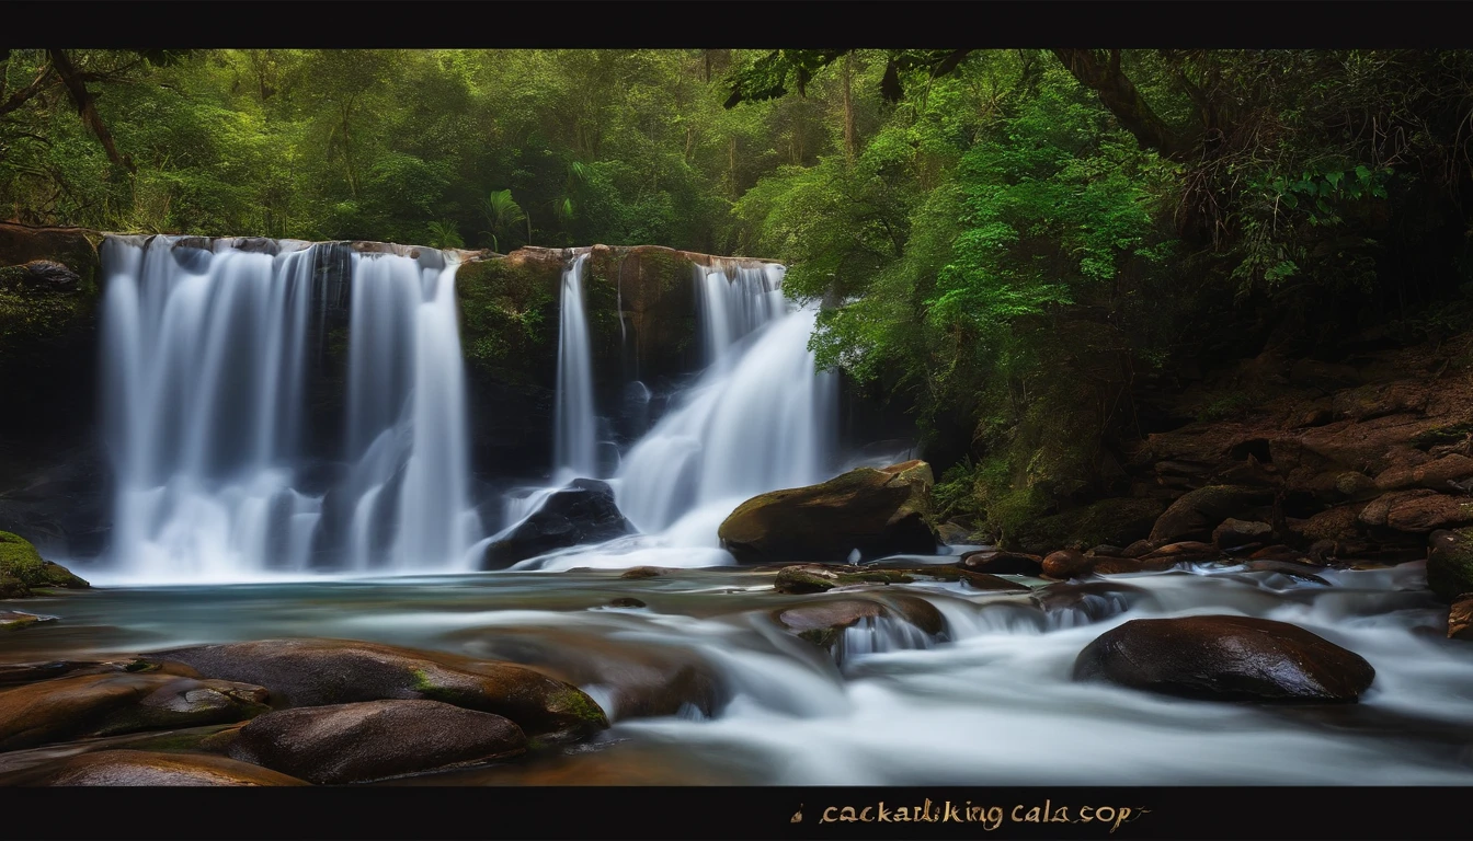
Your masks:
<svg viewBox="0 0 1473 841"><path fill-rule="evenodd" d="M614 504L614 489L597 479L574 479L552 493L510 535L486 546L483 569L504 570L518 561L582 543L633 533Z"/></svg>

